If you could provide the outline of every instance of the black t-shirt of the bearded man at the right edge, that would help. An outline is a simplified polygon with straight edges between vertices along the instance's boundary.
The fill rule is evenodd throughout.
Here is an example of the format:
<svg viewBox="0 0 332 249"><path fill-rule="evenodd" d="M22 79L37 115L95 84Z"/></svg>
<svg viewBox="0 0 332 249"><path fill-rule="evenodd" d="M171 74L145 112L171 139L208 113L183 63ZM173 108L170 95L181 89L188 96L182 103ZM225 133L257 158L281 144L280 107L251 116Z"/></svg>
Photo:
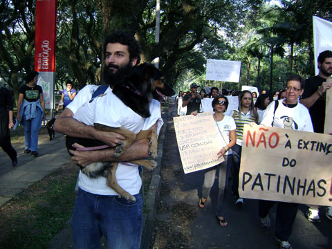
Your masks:
<svg viewBox="0 0 332 249"><path fill-rule="evenodd" d="M326 82L326 79L320 76L314 76L306 79L306 84L304 86L304 93L302 98L309 98L313 93L318 90L318 87ZM317 133L324 133L324 123L325 123L325 107L326 107L326 93L324 93L320 98L309 108L311 120L313 121L313 130Z"/></svg>

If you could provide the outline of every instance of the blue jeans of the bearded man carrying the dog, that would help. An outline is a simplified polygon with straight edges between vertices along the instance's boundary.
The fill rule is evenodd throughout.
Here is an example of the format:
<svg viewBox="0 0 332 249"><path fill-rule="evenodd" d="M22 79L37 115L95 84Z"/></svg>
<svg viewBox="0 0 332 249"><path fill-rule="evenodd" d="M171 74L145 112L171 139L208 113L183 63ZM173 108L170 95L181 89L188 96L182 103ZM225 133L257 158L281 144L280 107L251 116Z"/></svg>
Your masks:
<svg viewBox="0 0 332 249"><path fill-rule="evenodd" d="M142 199L134 196L135 203L79 189L71 218L74 248L101 248L102 235L109 248L140 248Z"/></svg>

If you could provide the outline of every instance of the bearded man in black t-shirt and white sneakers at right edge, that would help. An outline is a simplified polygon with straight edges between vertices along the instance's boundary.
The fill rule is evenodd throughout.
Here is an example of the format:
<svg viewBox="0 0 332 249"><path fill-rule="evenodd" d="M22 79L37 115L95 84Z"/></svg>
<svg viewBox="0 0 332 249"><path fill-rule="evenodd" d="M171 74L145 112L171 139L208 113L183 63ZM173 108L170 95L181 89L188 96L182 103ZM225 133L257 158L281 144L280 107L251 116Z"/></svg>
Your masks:
<svg viewBox="0 0 332 249"><path fill-rule="evenodd" d="M331 89L332 83L332 51L325 50L317 58L318 75L308 78L304 87L304 93L300 102L310 111L313 120L313 129L316 133L324 133L325 109L326 109L326 90ZM326 217L332 220L332 207L326 207ZM309 205L306 212L308 221L320 221L320 214L317 205Z"/></svg>

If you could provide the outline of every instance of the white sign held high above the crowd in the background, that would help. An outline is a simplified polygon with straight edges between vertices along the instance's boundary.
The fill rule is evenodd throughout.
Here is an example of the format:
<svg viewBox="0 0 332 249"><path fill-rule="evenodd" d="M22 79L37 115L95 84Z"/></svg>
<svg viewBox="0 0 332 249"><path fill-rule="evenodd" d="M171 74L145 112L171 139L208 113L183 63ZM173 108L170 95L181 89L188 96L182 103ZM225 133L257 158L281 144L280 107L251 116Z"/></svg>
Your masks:
<svg viewBox="0 0 332 249"><path fill-rule="evenodd" d="M222 59L208 59L206 62L206 80L239 82L241 62Z"/></svg>

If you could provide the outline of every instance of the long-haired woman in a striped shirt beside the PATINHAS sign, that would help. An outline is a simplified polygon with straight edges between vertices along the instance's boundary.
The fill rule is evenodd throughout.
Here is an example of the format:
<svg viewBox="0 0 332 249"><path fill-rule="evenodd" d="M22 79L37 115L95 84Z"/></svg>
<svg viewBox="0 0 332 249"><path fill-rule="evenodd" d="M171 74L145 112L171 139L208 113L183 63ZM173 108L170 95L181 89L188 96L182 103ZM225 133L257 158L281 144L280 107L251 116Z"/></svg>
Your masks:
<svg viewBox="0 0 332 249"><path fill-rule="evenodd" d="M234 159L234 167L232 170L233 174L233 184L232 192L236 197L237 201L235 204L241 206L243 204L243 199L239 196L239 172L241 163L241 151L242 151L242 136L243 136L243 126L244 124L250 124L250 122L258 122L258 114L255 111L254 101L252 99L252 93L248 90L242 91L239 95L239 110L234 111L233 118L235 124L237 124L237 142L232 147Z"/></svg>

